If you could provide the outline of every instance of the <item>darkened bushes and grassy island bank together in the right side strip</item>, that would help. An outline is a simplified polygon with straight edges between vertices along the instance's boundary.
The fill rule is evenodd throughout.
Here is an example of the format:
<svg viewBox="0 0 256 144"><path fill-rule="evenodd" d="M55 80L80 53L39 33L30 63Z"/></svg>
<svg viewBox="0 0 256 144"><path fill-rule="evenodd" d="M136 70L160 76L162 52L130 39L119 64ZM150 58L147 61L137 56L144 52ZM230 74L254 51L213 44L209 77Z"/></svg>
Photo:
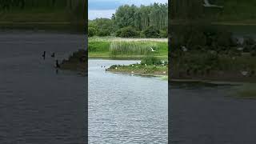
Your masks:
<svg viewBox="0 0 256 144"><path fill-rule="evenodd" d="M218 26L196 23L174 31L171 78L256 82L256 42ZM185 48L184 48L185 47Z"/></svg>

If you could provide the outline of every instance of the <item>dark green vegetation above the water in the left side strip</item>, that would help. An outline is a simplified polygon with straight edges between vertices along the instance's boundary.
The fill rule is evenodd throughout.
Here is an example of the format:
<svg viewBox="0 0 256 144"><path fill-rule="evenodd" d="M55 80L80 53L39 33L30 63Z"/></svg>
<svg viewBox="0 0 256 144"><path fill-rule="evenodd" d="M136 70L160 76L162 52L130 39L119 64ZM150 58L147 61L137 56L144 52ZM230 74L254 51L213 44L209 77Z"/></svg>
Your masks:
<svg viewBox="0 0 256 144"><path fill-rule="evenodd" d="M84 31L87 18L83 0L72 6L66 1L21 0L23 5L4 1L0 3L0 29Z"/></svg>

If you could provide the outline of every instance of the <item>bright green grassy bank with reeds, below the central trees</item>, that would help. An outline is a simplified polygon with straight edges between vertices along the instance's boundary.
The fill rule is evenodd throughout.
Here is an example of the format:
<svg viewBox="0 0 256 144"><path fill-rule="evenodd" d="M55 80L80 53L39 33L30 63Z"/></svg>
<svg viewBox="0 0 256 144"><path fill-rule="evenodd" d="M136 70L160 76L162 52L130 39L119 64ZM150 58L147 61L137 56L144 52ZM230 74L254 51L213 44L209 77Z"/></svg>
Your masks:
<svg viewBox="0 0 256 144"><path fill-rule="evenodd" d="M155 51L152 51L152 49ZM89 58L141 59L147 55L168 58L165 38L89 38Z"/></svg>

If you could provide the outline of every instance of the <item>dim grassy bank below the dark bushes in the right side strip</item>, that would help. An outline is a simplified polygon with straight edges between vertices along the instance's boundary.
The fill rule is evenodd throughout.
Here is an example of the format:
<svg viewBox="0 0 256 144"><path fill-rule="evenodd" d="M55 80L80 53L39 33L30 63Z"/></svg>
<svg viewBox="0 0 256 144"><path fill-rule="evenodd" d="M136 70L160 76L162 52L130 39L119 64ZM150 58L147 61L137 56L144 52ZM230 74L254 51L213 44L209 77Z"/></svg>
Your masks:
<svg viewBox="0 0 256 144"><path fill-rule="evenodd" d="M256 82L256 57L250 54L183 54L173 61L172 78Z"/></svg>

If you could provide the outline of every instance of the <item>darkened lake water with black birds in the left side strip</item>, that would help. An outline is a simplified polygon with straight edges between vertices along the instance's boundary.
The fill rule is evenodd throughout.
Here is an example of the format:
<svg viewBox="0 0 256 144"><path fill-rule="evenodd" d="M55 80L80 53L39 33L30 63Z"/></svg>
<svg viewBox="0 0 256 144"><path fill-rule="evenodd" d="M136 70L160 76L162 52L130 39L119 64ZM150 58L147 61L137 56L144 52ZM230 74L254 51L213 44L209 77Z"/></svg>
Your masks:
<svg viewBox="0 0 256 144"><path fill-rule="evenodd" d="M85 143L86 78L54 69L83 43L80 34L0 32L0 143Z"/></svg>

